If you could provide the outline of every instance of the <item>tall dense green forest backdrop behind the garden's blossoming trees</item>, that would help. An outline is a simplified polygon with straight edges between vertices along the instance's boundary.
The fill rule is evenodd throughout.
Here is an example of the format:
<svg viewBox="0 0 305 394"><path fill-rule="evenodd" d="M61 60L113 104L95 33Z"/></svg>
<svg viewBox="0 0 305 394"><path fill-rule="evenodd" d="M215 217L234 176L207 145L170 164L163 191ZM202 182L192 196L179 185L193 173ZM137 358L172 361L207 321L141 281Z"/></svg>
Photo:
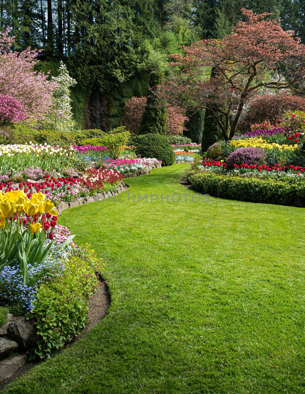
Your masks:
<svg viewBox="0 0 305 394"><path fill-rule="evenodd" d="M125 101L147 95L150 72L168 72L168 54L198 39L223 37L242 7L273 12L284 30L305 41L301 0L1 0L0 29L17 35L16 50L42 49L45 72L56 75L59 59L67 64L78 82L72 99L79 126L86 126L88 101L99 91L109 102L104 127L115 127Z"/></svg>

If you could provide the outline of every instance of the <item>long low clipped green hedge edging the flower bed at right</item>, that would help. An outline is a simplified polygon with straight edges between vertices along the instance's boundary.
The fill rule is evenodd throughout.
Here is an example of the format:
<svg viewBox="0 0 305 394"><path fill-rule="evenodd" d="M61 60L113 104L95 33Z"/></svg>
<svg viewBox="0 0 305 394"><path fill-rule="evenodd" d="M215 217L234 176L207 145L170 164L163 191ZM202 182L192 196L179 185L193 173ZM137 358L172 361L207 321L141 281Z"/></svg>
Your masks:
<svg viewBox="0 0 305 394"><path fill-rule="evenodd" d="M305 197L304 182L288 184L272 179L231 177L208 172L191 172L187 177L196 190L226 199L287 205L292 204L296 197Z"/></svg>

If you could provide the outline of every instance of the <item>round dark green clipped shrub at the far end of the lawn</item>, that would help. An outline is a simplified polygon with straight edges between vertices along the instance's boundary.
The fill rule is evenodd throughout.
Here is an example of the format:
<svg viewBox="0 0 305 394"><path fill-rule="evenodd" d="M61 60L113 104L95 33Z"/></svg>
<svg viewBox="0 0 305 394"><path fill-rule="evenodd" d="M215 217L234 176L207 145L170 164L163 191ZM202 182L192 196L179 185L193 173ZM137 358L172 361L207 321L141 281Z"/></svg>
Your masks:
<svg viewBox="0 0 305 394"><path fill-rule="evenodd" d="M135 136L131 144L136 147L136 154L146 158L162 160L162 165L172 165L175 162L175 154L168 142L168 138L161 134L150 133Z"/></svg>

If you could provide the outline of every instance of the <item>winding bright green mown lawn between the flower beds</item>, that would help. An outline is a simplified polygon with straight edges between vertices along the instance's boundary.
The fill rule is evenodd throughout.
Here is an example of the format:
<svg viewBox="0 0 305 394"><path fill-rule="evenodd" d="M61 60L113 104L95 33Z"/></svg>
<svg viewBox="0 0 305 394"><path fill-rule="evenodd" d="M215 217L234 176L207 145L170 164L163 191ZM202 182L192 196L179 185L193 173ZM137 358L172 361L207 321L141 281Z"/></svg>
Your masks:
<svg viewBox="0 0 305 394"><path fill-rule="evenodd" d="M192 193L187 168L128 179L129 191ZM109 314L4 392L303 393L304 219L215 198L66 210L59 223L106 258Z"/></svg>

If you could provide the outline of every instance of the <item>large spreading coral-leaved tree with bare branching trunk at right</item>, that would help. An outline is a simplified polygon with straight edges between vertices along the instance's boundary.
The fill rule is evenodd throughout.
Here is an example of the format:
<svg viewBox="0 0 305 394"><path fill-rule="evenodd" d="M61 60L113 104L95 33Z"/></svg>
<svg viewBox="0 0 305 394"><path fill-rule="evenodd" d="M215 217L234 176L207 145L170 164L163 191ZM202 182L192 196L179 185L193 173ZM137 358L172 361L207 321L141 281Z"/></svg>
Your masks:
<svg viewBox="0 0 305 394"><path fill-rule="evenodd" d="M170 65L178 71L157 91L159 100L172 106L210 110L226 141L234 137L245 104L261 89L289 89L305 76L305 46L293 32L284 32L270 13L241 11L247 21L238 22L223 39L198 41L183 47L183 55L170 55ZM219 114L225 116L225 125Z"/></svg>

